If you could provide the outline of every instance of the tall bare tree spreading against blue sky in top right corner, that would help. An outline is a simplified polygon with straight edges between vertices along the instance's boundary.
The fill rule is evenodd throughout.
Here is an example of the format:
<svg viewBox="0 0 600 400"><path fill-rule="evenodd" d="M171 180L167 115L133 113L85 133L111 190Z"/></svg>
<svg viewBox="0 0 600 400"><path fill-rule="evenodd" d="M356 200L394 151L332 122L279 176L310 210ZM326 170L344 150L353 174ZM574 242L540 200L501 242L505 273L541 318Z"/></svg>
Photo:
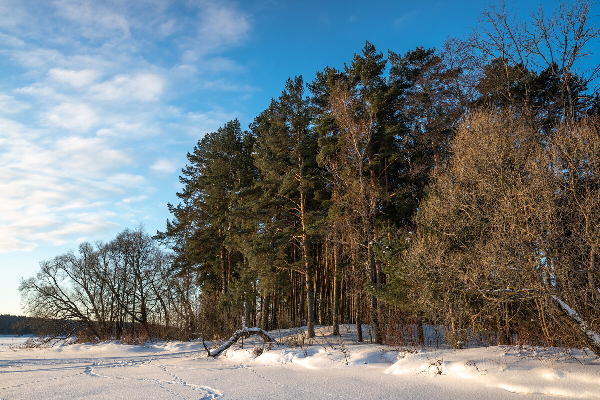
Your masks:
<svg viewBox="0 0 600 400"><path fill-rule="evenodd" d="M598 91L600 67L590 68L583 62L600 39L593 5L590 0L579 0L561 2L550 12L540 7L530 12L529 25L518 20L504 2L491 5L463 43L472 50L469 64L484 74L495 65L496 87L487 90L504 97L505 104L517 106L524 115L552 119L560 112L562 119L573 118L590 106ZM544 88L536 88L539 78L535 74L545 79ZM536 102L536 96L544 101Z"/></svg>

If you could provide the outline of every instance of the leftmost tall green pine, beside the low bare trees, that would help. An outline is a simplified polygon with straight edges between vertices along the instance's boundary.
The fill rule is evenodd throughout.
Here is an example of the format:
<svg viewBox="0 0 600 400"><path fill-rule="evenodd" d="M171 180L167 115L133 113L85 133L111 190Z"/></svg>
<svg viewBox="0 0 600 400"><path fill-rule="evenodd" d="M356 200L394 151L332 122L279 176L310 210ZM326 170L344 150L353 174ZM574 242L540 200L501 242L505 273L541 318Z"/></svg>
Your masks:
<svg viewBox="0 0 600 400"><path fill-rule="evenodd" d="M235 276L235 264L243 262L236 241L229 238L235 234L232 204L253 179L252 146L253 140L242 132L238 120L200 140L182 170L184 189L177 194L182 203L169 204L174 219L167 221L164 233L157 233L175 251L174 266L197 273L207 296L225 295ZM230 303L221 305L231 311Z"/></svg>

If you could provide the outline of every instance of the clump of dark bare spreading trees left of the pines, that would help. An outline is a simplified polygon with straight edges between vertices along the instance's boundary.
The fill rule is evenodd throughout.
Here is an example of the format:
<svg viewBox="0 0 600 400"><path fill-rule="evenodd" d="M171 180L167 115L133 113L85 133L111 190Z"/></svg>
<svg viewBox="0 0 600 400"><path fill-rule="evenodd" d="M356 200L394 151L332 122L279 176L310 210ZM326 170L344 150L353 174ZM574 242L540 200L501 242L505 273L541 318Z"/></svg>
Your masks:
<svg viewBox="0 0 600 400"><path fill-rule="evenodd" d="M28 314L55 322L50 339L134 337L136 325L149 337L160 336L163 327L163 336L189 337L198 288L193 278L169 273L169 266L169 255L140 227L44 261L20 291Z"/></svg>

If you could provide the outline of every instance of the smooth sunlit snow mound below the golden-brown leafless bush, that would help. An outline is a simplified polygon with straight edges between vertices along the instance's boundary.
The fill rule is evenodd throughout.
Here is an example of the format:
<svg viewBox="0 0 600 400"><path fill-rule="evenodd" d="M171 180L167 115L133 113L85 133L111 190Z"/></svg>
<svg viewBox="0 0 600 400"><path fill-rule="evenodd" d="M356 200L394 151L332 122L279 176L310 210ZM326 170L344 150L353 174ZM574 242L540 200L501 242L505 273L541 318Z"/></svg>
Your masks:
<svg viewBox="0 0 600 400"><path fill-rule="evenodd" d="M386 374L455 376L527 395L600 398L600 361L579 351L487 347L401 354Z"/></svg>

